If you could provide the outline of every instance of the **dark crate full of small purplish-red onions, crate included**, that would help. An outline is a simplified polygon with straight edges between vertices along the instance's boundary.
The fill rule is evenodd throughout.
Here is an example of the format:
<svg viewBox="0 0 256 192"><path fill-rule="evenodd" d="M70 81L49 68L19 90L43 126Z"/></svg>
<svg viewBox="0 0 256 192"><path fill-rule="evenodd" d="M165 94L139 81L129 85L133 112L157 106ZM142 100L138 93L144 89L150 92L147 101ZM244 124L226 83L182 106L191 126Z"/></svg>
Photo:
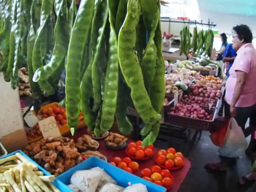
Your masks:
<svg viewBox="0 0 256 192"><path fill-rule="evenodd" d="M215 119L217 110L201 107L198 104L184 104L179 102L170 108L168 121L170 124L182 127L209 130L210 123Z"/></svg>

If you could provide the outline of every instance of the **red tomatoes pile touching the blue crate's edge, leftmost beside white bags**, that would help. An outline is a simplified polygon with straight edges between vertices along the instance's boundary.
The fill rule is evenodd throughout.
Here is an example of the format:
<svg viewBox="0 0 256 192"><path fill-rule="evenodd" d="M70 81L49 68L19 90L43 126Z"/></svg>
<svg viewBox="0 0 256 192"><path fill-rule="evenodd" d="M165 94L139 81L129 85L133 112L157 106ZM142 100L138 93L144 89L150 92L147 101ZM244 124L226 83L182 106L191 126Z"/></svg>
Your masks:
<svg viewBox="0 0 256 192"><path fill-rule="evenodd" d="M122 159L120 157L114 157L110 164L117 166L120 169L132 174L136 174L140 168L139 164L135 161L132 161L129 157L125 157Z"/></svg>

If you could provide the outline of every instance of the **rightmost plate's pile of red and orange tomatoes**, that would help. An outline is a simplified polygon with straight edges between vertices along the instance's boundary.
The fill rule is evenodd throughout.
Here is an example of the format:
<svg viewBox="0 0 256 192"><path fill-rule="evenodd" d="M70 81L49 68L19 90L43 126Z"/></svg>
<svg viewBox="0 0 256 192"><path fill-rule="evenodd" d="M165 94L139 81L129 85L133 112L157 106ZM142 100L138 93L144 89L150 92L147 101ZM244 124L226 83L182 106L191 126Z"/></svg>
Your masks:
<svg viewBox="0 0 256 192"><path fill-rule="evenodd" d="M175 166L181 167L184 165L184 157L182 153L176 152L174 148L159 150L156 163L168 169L174 168Z"/></svg>

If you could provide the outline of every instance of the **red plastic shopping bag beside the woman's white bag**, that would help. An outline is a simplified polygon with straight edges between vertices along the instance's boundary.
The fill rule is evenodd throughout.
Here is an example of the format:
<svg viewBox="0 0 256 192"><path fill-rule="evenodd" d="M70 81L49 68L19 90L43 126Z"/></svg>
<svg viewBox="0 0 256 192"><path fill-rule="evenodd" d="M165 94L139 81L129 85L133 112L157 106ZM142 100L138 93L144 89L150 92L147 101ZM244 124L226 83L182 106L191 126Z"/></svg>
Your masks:
<svg viewBox="0 0 256 192"><path fill-rule="evenodd" d="M218 120L218 119L216 119L216 120ZM218 130L216 130L210 134L210 139L211 139L212 143L218 147L221 147L224 145L226 133L228 130L228 126L230 124L230 118L221 119L221 120L225 122L224 126L223 126L223 123L221 122L222 124L220 124L220 126L222 126L222 127L218 128Z"/></svg>

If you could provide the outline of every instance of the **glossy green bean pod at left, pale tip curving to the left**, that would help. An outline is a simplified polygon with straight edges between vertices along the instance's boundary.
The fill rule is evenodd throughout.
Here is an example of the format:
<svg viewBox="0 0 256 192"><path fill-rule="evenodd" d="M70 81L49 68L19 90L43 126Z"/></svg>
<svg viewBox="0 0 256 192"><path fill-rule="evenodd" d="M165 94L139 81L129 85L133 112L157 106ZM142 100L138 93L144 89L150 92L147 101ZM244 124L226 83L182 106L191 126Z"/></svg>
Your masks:
<svg viewBox="0 0 256 192"><path fill-rule="evenodd" d="M67 16L67 6L65 0L55 0L57 21L54 29L55 32L55 45L52 51L52 56L50 62L46 65L38 68L33 76L33 81L38 82L40 80L47 80L55 70L60 66L62 60L66 56L68 50L68 26L66 20Z"/></svg>

